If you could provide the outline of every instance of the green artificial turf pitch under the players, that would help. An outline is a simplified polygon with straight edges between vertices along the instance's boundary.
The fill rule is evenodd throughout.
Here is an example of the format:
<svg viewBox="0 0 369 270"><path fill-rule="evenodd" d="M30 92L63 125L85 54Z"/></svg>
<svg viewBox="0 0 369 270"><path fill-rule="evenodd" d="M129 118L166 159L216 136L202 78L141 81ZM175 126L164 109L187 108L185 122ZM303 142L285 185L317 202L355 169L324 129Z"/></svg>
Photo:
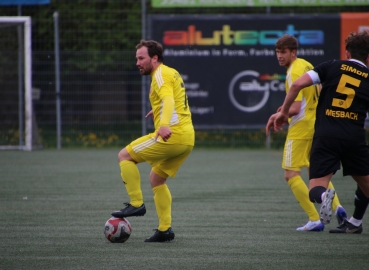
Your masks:
<svg viewBox="0 0 369 270"><path fill-rule="evenodd" d="M308 220L286 184L282 151L195 149L175 179L175 240L144 243L157 228L150 167L140 164L147 208L127 242L104 237L110 213L129 201L116 150L0 152L0 269L365 269L361 235L297 232ZM303 176L307 182L306 172ZM356 184L333 178L353 213Z"/></svg>

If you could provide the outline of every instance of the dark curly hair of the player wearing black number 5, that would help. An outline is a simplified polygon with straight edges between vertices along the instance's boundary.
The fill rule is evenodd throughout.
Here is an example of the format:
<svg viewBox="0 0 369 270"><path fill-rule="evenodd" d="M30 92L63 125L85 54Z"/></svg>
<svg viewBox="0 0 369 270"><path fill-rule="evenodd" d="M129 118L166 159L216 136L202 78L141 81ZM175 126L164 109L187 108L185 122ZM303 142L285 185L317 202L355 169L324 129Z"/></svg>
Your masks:
<svg viewBox="0 0 369 270"><path fill-rule="evenodd" d="M351 58L365 62L369 55L369 34L366 31L351 32L345 40L346 51L351 53Z"/></svg>

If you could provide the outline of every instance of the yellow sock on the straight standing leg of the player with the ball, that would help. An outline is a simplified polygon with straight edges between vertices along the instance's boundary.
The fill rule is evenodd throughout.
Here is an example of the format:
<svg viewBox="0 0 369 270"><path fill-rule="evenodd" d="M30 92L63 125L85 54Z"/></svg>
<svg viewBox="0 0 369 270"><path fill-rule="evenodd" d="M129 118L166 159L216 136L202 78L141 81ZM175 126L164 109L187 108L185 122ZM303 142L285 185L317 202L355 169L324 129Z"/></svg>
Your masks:
<svg viewBox="0 0 369 270"><path fill-rule="evenodd" d="M159 231L166 231L172 224L172 195L166 184L156 186L154 192L154 202L159 218Z"/></svg>

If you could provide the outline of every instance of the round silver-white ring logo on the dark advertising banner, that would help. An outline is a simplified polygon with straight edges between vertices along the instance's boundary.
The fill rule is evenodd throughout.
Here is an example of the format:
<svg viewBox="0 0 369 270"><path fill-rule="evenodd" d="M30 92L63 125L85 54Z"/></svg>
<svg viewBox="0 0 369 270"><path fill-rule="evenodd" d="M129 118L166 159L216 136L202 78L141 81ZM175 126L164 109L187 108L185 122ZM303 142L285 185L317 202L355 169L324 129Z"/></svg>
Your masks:
<svg viewBox="0 0 369 270"><path fill-rule="evenodd" d="M259 73L246 70L233 77L229 84L232 104L244 112L260 110L269 98L269 85L259 82Z"/></svg>

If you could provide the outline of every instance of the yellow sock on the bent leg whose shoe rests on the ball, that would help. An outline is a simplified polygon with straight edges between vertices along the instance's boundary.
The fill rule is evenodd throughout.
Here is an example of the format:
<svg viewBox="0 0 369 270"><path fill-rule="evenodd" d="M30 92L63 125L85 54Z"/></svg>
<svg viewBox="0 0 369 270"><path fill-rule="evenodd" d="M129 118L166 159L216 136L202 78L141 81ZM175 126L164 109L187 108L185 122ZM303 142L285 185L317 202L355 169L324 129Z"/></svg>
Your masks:
<svg viewBox="0 0 369 270"><path fill-rule="evenodd" d="M124 186L126 187L130 204L134 207L140 207L143 204L140 172L137 165L128 160L123 160L119 163L120 175Z"/></svg>

